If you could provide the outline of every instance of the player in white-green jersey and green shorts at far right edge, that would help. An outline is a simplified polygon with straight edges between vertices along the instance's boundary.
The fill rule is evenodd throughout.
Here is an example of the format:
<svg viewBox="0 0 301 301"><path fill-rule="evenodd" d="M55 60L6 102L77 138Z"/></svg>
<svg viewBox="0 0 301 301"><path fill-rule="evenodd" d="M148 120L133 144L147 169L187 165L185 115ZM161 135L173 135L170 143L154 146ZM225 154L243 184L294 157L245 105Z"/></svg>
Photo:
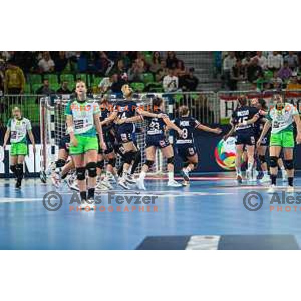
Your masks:
<svg viewBox="0 0 301 301"><path fill-rule="evenodd" d="M297 108L287 102L284 102L280 94L274 96L274 104L270 105L269 112L266 115L267 122L264 125L262 133L258 139L257 145L260 145L263 137L271 129L270 136L270 174L271 187L270 193L273 193L276 186L276 178L278 173L278 158L283 149L284 165L288 176L288 192L293 191L293 122L296 124L297 136L296 143L301 143L301 122Z"/></svg>

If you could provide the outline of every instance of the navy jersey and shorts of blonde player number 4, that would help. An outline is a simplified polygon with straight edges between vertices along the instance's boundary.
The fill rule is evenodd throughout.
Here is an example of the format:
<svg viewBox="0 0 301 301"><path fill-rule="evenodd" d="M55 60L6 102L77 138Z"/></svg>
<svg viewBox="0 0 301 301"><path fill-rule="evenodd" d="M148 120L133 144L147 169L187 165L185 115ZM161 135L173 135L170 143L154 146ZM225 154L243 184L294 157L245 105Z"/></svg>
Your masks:
<svg viewBox="0 0 301 301"><path fill-rule="evenodd" d="M119 100L114 110L117 111L117 117L120 119L131 118L136 115L137 103L133 100ZM123 123L116 126L117 139L120 143L133 141L133 133L135 132L134 123Z"/></svg>

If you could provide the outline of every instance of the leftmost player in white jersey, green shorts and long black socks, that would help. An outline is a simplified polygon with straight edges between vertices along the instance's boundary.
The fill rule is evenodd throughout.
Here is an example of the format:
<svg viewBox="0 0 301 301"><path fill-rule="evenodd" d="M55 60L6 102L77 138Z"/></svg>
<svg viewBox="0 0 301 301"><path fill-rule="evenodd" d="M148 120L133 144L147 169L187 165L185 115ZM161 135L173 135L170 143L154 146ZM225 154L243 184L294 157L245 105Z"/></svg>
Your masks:
<svg viewBox="0 0 301 301"><path fill-rule="evenodd" d="M32 142L34 152L36 152L36 144L30 120L21 115L21 110L18 107L14 107L12 113L13 118L11 118L7 124L3 148L6 148L7 142L11 136L10 169L17 179L16 188L20 188L23 179L23 162L25 156L28 155L27 133Z"/></svg>

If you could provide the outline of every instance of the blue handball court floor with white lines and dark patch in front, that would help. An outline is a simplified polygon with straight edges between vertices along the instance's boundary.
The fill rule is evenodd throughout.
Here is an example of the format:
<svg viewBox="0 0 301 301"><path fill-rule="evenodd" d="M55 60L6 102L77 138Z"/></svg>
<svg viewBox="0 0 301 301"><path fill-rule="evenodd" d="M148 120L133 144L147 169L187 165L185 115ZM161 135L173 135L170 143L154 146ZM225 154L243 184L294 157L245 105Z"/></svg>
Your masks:
<svg viewBox="0 0 301 301"><path fill-rule="evenodd" d="M104 193L94 212L73 210L69 204L72 192L67 187L55 189L42 184L40 179L26 179L22 189L16 190L13 179L1 179L0 249L299 249L301 204L292 204L291 210L286 211L287 204L276 203L275 208L282 206L282 211L271 211L271 195L262 184L238 186L233 176L198 174L190 187L181 188L166 187L166 180L146 180L147 190L140 196L157 195L155 204L124 201L118 205L113 199L109 211L108 196ZM277 184L286 185L281 179ZM301 192L300 172L295 186L293 196ZM62 196L62 206L57 211L48 211L43 206L42 198L50 191ZM244 196L251 191L262 195L263 205L258 211L249 211L244 206ZM277 191L282 193L281 188ZM115 190L121 198L137 195L136 192ZM100 211L100 206L105 210ZM138 210L139 206L144 206L144 212Z"/></svg>

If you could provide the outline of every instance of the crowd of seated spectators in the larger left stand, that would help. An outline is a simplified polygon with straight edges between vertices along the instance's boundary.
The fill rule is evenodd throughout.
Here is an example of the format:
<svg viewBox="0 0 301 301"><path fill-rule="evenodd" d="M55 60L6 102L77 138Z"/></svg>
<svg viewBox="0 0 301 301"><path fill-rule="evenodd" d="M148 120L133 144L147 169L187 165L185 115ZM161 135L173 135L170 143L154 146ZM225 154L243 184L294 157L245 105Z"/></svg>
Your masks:
<svg viewBox="0 0 301 301"><path fill-rule="evenodd" d="M184 62L174 51L162 57L159 51L0 51L0 93L24 94L30 74L41 74L41 87L35 93L72 91L71 83L62 81L56 91L47 75L62 73L87 74L101 77L93 92L120 92L124 83L136 85L144 92L196 91L198 79L193 68L185 68ZM147 78L147 85L146 85ZM142 92L141 91L141 92Z"/></svg>

